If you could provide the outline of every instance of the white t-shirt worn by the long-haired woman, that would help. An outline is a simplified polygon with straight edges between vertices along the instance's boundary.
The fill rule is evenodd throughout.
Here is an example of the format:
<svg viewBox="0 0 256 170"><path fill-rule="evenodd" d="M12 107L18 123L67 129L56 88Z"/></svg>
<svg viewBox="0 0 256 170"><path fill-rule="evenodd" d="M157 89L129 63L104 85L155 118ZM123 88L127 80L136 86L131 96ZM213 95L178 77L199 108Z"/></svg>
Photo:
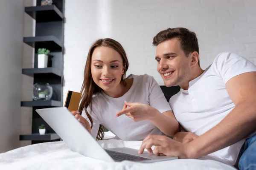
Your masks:
<svg viewBox="0 0 256 170"><path fill-rule="evenodd" d="M148 134L163 135L163 133L150 121L143 120L134 122L125 115L115 117L122 110L124 102L140 102L158 109L161 113L171 111L160 86L153 77L144 75L129 75L127 79L133 78L133 84L129 91L122 97L113 98L104 92L93 95L92 110L87 107L88 113L93 118L92 136L96 138L99 125L102 124L119 139L143 140ZM87 118L85 111L82 116ZM87 119L88 120L88 119ZM90 123L90 121L88 120Z"/></svg>

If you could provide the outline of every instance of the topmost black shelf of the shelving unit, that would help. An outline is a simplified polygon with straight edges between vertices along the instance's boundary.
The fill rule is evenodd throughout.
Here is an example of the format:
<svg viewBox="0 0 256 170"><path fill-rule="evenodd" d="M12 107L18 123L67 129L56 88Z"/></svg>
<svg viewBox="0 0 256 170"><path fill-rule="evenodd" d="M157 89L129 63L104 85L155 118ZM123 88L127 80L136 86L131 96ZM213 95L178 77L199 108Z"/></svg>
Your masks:
<svg viewBox="0 0 256 170"><path fill-rule="evenodd" d="M36 22L61 21L64 15L55 6L29 6L25 7L25 12L29 14Z"/></svg>

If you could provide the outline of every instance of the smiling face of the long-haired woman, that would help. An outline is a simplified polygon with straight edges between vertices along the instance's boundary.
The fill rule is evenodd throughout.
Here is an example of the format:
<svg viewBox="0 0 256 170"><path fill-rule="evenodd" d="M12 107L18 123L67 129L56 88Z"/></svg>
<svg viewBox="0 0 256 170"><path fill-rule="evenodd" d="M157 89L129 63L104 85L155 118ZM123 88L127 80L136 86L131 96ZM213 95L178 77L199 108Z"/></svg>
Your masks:
<svg viewBox="0 0 256 170"><path fill-rule="evenodd" d="M104 91L115 90L124 74L121 55L113 48L95 48L91 59L91 73L93 81Z"/></svg>

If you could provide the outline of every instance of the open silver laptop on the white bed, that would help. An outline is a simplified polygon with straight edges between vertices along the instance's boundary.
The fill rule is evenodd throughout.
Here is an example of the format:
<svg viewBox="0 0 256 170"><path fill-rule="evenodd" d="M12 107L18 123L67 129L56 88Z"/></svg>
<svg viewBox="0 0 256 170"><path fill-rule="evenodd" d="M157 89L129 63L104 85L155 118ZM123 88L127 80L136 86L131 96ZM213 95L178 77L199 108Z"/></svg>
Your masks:
<svg viewBox="0 0 256 170"><path fill-rule="evenodd" d="M138 150L119 147L103 149L66 107L35 110L74 152L103 161L155 162L178 159L175 156L139 154Z"/></svg>

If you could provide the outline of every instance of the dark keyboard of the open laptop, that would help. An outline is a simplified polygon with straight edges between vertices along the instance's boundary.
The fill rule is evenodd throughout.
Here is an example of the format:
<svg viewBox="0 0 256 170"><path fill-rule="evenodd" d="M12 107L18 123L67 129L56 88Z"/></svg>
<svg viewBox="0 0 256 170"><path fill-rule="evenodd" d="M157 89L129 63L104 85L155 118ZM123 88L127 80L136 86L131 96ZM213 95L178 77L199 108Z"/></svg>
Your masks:
<svg viewBox="0 0 256 170"><path fill-rule="evenodd" d="M130 155L130 154L127 154L127 153L116 152L114 150L106 149L106 152L115 161L125 161L125 160L127 160L127 161L143 161L143 160L147 160L147 158L143 158L143 157L140 157L140 156L134 156L134 155Z"/></svg>

